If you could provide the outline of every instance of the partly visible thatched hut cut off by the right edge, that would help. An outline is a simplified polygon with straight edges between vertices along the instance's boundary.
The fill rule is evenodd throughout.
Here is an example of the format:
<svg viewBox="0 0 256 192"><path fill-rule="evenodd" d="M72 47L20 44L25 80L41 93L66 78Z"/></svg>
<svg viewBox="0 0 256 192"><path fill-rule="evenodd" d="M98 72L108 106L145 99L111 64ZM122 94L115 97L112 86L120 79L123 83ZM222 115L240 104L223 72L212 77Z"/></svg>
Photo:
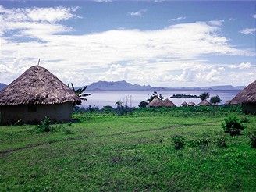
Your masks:
<svg viewBox="0 0 256 192"><path fill-rule="evenodd" d="M244 113L256 114L256 80L236 94L231 101L242 104Z"/></svg>

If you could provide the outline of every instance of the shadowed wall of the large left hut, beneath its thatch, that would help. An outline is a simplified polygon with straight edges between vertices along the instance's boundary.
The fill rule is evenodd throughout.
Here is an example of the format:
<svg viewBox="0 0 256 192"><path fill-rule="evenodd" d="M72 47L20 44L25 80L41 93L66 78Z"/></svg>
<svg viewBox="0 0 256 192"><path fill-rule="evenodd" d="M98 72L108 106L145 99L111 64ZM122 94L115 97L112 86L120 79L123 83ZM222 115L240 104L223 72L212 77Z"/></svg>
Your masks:
<svg viewBox="0 0 256 192"><path fill-rule="evenodd" d="M1 106L1 123L17 122L34 123L44 120L45 116L52 121L69 122L72 118L72 103L55 105L9 105Z"/></svg>

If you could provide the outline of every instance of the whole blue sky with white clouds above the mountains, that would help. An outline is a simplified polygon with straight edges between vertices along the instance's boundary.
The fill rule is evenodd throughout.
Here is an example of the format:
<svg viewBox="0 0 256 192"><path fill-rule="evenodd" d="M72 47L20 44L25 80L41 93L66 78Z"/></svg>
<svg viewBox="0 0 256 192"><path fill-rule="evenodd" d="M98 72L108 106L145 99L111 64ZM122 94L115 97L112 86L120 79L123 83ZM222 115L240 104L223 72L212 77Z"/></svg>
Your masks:
<svg viewBox="0 0 256 192"><path fill-rule="evenodd" d="M0 1L0 83L30 66L75 87L256 80L256 1Z"/></svg>

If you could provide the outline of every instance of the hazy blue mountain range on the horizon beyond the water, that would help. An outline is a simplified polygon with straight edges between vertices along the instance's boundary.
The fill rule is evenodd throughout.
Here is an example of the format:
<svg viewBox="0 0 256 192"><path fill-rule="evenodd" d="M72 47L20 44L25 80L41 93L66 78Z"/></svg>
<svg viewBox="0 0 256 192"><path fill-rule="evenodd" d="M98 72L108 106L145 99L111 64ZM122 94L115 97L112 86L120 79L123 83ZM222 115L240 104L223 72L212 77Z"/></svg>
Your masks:
<svg viewBox="0 0 256 192"><path fill-rule="evenodd" d="M0 83L0 90L6 84ZM211 87L151 87L150 85L130 84L125 80L121 81L98 81L87 85L87 91L233 91L242 90L245 86L211 86Z"/></svg>

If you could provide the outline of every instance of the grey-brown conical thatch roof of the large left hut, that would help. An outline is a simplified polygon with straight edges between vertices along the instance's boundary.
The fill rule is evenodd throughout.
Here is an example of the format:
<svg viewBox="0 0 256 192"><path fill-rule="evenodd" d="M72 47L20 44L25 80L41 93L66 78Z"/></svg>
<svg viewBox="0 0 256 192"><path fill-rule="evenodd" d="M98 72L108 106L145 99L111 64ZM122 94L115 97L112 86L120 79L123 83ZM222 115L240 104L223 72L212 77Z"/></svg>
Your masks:
<svg viewBox="0 0 256 192"><path fill-rule="evenodd" d="M31 66L0 91L0 105L61 104L80 98L56 76L41 66Z"/></svg>

